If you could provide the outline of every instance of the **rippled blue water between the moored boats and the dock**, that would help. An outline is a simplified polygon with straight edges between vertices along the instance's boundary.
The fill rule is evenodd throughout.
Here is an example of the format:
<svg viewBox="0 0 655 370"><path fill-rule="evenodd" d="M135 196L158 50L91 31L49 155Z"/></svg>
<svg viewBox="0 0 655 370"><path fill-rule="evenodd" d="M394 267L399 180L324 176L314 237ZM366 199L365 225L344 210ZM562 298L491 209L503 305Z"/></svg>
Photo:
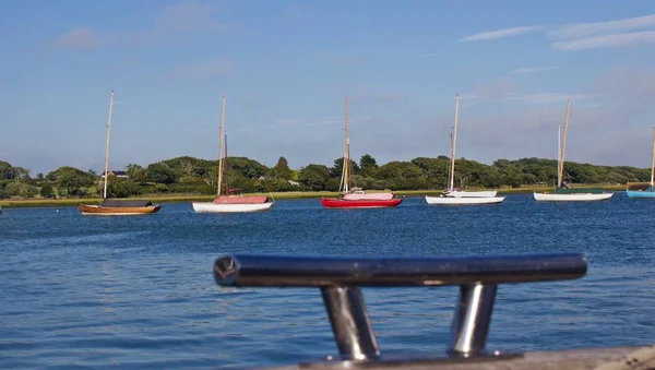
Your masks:
<svg viewBox="0 0 655 370"><path fill-rule="evenodd" d="M225 252L408 256L586 252L579 281L503 285L489 349L655 342L655 202L323 210L143 217L75 207L0 216L0 368L217 368L295 363L336 348L317 289L217 287ZM456 288L366 289L383 353L445 348Z"/></svg>

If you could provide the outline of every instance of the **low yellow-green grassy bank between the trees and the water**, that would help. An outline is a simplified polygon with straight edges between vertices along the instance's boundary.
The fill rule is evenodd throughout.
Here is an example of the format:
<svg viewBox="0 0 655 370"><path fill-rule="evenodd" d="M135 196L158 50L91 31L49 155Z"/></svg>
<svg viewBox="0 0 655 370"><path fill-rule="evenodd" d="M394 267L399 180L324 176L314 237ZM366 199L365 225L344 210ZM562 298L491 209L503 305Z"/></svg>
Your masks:
<svg viewBox="0 0 655 370"><path fill-rule="evenodd" d="M626 186L597 186L585 184L575 186L574 188L602 187L607 191L624 191ZM532 192L544 192L552 190L552 187L522 187L508 189L466 189L466 190L496 190L499 194L525 194ZM376 191L371 191L376 192ZM398 190L394 191L401 196L421 196L421 195L439 195L443 193L441 190ZM300 199L319 199L319 198L335 198L338 192L332 191L288 191L275 193L252 193L248 195L267 195L274 200L300 200ZM179 202L209 202L215 195L199 195L199 194L179 194L179 195L143 195L130 198L132 200L148 200L155 203L179 203ZM2 207L52 207L52 206L75 206L81 204L98 204L99 199L24 199L24 200L0 200Z"/></svg>

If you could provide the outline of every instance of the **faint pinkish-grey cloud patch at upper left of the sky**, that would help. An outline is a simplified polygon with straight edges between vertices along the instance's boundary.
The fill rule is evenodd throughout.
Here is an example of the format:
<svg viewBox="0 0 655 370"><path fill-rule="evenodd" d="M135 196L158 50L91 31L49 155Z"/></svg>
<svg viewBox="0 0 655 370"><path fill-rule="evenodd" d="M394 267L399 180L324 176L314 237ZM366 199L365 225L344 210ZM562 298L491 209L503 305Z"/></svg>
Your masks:
<svg viewBox="0 0 655 370"><path fill-rule="evenodd" d="M218 10L216 2L186 0L164 8L146 31L102 33L88 26L78 26L57 37L51 46L56 49L91 50L112 44L170 43L181 36L198 33L223 35L233 31L235 25L218 21L216 19Z"/></svg>

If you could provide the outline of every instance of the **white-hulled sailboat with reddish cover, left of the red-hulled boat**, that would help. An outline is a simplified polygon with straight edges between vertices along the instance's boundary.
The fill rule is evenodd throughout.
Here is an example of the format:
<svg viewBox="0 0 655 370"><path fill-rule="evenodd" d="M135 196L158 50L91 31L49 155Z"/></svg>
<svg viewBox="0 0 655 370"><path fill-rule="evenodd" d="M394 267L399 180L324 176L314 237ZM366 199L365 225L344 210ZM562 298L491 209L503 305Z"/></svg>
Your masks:
<svg viewBox="0 0 655 370"><path fill-rule="evenodd" d="M267 211L275 202L270 201L267 196L243 195L241 189L230 189L225 187L223 191L223 174L227 179L227 136L224 135L225 127L225 94L223 94L223 111L221 114L221 139L218 142L218 184L216 189L216 199L213 202L192 202L193 211L198 213L240 213L240 212L260 212ZM225 151L224 151L225 143Z"/></svg>

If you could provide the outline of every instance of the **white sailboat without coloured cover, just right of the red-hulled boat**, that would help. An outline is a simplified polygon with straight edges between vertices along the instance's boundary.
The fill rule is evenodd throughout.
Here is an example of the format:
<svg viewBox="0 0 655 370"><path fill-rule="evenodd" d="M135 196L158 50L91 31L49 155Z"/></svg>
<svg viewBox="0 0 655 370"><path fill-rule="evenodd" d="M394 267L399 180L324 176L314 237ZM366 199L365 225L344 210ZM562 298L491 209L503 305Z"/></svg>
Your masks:
<svg viewBox="0 0 655 370"><path fill-rule="evenodd" d="M426 195L426 202L430 205L466 205L466 204L495 204L504 200L504 196L496 196L496 191L463 191L455 188L455 151L457 143L457 123L460 112L460 95L455 95L455 126L451 136L451 168L449 172L449 188L441 196Z"/></svg>

